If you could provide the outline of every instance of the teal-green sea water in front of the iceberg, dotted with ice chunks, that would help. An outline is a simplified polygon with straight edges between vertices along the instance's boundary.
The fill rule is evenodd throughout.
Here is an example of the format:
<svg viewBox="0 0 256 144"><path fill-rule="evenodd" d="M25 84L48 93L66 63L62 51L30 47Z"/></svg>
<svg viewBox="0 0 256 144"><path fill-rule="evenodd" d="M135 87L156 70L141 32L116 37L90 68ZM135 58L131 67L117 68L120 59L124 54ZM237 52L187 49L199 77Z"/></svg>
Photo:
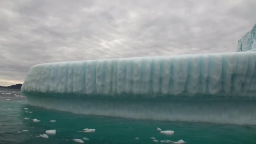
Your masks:
<svg viewBox="0 0 256 144"><path fill-rule="evenodd" d="M33 122L32 119L40 122ZM81 132L84 128L95 129L95 132ZM175 133L166 136L157 128ZM47 134L48 138L38 137L45 134L46 130L56 130L56 134ZM182 139L187 144L256 144L256 125L77 115L29 106L26 96L19 91L0 89L0 144L76 144L73 139L85 138L84 144L157 143L152 137L158 143Z"/></svg>

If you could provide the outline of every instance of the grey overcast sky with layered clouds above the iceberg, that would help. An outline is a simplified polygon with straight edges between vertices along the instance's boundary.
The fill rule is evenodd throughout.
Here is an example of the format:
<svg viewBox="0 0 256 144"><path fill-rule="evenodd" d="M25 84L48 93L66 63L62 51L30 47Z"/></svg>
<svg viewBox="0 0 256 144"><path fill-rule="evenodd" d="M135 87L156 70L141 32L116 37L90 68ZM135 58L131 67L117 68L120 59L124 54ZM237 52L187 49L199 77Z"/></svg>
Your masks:
<svg viewBox="0 0 256 144"><path fill-rule="evenodd" d="M0 0L0 85L56 61L232 52L256 0Z"/></svg>

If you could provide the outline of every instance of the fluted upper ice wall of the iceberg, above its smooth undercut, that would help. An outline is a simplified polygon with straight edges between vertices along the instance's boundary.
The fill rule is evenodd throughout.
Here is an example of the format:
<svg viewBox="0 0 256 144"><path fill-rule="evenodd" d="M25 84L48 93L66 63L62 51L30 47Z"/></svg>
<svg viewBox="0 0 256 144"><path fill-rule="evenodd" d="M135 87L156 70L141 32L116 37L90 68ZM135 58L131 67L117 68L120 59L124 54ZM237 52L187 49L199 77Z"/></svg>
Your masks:
<svg viewBox="0 0 256 144"><path fill-rule="evenodd" d="M256 52L38 64L26 95L82 97L256 97Z"/></svg>

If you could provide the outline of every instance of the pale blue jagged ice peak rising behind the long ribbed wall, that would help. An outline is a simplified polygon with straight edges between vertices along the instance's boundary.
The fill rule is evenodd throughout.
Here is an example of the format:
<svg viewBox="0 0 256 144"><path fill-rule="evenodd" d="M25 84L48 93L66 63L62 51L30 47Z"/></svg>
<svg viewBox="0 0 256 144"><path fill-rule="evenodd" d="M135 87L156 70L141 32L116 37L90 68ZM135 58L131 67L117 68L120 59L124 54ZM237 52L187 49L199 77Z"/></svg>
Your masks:
<svg viewBox="0 0 256 144"><path fill-rule="evenodd" d="M252 50L254 49L254 50ZM256 24L241 40L238 40L236 51L256 51Z"/></svg>

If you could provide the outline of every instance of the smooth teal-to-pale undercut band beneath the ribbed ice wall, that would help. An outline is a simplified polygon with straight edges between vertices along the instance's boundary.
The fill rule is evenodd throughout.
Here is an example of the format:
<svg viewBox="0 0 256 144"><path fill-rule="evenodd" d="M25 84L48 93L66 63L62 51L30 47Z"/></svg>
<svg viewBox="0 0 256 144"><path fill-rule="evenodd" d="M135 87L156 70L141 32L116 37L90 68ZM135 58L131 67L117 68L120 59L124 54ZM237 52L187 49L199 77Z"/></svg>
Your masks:
<svg viewBox="0 0 256 144"><path fill-rule="evenodd" d="M256 124L253 99L77 99L29 96L28 104L85 115Z"/></svg>

